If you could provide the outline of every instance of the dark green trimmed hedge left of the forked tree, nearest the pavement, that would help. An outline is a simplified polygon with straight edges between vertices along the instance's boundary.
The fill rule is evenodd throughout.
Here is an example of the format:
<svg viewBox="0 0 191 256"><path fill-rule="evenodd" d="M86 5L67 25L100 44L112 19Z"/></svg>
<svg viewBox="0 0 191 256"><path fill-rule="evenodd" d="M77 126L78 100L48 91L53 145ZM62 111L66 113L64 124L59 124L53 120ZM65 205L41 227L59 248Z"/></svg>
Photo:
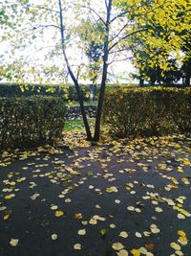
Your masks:
<svg viewBox="0 0 191 256"><path fill-rule="evenodd" d="M65 114L58 97L0 98L0 149L52 143L61 137Z"/></svg>

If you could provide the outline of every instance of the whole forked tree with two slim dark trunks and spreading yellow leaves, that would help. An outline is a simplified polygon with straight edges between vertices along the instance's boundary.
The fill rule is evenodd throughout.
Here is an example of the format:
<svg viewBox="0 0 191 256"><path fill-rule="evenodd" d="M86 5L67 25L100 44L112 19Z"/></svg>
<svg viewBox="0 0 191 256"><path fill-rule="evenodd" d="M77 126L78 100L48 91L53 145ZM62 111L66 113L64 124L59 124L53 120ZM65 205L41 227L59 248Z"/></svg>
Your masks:
<svg viewBox="0 0 191 256"><path fill-rule="evenodd" d="M129 51L136 45L135 38L141 38L139 50L149 56L145 62L139 61L137 66L142 70L145 65L158 65L168 71L172 68L169 55L181 62L189 58L188 51L181 54L191 24L187 0L44 0L40 4L20 0L5 1L4 10L13 24L3 35L10 42L6 60L11 67L9 78L53 83L67 81L70 76L89 140L99 139L108 71L115 62L128 59ZM79 81L90 81L87 69L93 65L88 58L96 57L95 49L101 58L94 77L100 77L101 86L93 136L80 99ZM138 55L139 52L137 58L141 59ZM6 69L6 64L3 67Z"/></svg>

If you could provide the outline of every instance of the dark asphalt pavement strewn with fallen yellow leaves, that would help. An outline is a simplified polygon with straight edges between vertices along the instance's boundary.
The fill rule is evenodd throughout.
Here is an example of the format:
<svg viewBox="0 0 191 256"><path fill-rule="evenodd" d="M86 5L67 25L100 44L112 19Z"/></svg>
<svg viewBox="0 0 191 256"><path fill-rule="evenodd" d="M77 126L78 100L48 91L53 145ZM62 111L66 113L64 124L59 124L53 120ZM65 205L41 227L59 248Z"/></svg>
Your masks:
<svg viewBox="0 0 191 256"><path fill-rule="evenodd" d="M0 256L190 256L190 146L174 136L4 152Z"/></svg>

